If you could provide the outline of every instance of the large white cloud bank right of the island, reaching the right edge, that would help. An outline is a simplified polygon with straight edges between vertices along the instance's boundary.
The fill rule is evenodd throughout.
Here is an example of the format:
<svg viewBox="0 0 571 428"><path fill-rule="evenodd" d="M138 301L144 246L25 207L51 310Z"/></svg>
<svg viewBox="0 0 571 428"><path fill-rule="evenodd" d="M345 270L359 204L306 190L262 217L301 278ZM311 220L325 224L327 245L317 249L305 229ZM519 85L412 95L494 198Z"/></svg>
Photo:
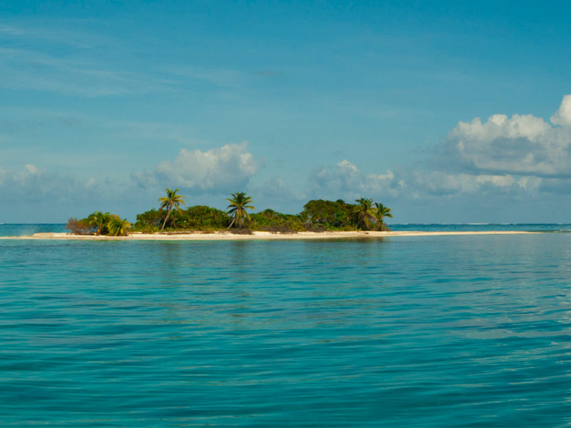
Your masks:
<svg viewBox="0 0 571 428"><path fill-rule="evenodd" d="M348 160L320 168L310 175L309 193L411 200L571 193L571 95L550 123L531 114L460 121L435 149L435 156L419 165L378 174L362 172Z"/></svg>

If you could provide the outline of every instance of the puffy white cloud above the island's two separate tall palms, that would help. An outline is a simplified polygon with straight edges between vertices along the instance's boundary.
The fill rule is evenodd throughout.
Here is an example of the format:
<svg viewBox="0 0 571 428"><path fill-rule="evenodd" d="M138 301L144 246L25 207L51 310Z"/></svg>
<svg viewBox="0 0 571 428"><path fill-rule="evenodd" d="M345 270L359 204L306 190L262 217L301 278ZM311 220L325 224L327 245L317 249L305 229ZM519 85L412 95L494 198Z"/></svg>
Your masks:
<svg viewBox="0 0 571 428"><path fill-rule="evenodd" d="M174 161L156 165L153 173L133 173L138 185L168 185L191 193L228 193L245 188L258 170L248 143L226 144L209 151L183 148Z"/></svg>

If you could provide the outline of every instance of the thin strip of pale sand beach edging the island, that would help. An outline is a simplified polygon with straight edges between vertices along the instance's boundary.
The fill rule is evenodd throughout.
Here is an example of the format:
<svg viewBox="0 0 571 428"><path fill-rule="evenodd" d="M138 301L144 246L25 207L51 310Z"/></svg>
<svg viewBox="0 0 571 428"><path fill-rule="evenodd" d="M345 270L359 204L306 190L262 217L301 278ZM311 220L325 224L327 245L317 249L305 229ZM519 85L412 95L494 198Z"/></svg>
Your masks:
<svg viewBox="0 0 571 428"><path fill-rule="evenodd" d="M253 232L252 235L237 235L229 232L216 233L134 233L129 236L108 235L71 235L69 233L34 233L23 236L0 236L0 240L320 240L320 239L346 239L346 238L392 238L406 236L449 236L449 235L521 235L530 232L523 230L478 230L478 231L448 231L425 232L420 230L406 231L349 231L349 232L299 232L292 234Z"/></svg>

